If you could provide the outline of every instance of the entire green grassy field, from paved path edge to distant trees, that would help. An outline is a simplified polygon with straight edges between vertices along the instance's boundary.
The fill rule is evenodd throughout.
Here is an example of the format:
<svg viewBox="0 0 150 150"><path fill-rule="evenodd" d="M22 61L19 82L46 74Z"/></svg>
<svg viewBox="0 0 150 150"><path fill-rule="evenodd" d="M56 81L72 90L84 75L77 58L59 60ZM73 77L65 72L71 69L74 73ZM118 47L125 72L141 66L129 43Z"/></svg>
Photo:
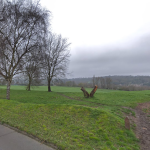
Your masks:
<svg viewBox="0 0 150 150"><path fill-rule="evenodd" d="M91 91L92 89L87 89ZM98 89L93 98L84 98L80 88L0 86L0 122L26 131L64 150L139 150L135 125L124 127L126 107L150 101L149 91Z"/></svg>

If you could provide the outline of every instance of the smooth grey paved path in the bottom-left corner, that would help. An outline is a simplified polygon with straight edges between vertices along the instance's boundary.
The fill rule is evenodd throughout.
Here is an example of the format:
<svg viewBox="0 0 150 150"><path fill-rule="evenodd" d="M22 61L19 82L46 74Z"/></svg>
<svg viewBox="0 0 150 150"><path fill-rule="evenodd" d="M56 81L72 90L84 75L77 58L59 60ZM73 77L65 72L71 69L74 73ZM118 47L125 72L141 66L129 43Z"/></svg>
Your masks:
<svg viewBox="0 0 150 150"><path fill-rule="evenodd" d="M0 150L54 150L34 139L0 125Z"/></svg>

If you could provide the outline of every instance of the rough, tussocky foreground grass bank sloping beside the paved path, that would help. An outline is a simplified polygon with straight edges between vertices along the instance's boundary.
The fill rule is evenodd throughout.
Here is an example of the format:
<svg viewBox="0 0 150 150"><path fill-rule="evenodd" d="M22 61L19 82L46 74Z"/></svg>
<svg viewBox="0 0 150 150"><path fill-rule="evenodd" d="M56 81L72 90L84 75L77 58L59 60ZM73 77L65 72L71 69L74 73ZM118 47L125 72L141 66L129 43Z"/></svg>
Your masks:
<svg viewBox="0 0 150 150"><path fill-rule="evenodd" d="M132 131L107 111L0 100L0 121L67 150L139 150Z"/></svg>

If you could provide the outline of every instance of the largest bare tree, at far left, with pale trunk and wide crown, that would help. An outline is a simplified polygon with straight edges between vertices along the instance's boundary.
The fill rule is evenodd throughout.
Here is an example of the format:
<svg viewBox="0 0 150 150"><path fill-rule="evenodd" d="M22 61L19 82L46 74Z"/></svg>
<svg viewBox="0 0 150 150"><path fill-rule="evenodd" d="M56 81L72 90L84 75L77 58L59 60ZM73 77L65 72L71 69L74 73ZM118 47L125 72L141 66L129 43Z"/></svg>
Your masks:
<svg viewBox="0 0 150 150"><path fill-rule="evenodd" d="M0 75L7 81L7 99L13 76L22 72L26 54L40 49L49 12L39 3L6 1L0 12Z"/></svg>

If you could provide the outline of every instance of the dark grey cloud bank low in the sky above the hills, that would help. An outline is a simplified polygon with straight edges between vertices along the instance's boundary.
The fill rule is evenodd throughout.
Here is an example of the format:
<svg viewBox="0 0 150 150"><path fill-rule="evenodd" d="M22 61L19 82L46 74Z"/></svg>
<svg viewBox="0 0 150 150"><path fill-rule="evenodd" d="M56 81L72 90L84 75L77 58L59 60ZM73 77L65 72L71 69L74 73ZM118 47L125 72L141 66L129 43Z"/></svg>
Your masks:
<svg viewBox="0 0 150 150"><path fill-rule="evenodd" d="M150 74L150 36L116 47L78 48L69 70L74 77Z"/></svg>

